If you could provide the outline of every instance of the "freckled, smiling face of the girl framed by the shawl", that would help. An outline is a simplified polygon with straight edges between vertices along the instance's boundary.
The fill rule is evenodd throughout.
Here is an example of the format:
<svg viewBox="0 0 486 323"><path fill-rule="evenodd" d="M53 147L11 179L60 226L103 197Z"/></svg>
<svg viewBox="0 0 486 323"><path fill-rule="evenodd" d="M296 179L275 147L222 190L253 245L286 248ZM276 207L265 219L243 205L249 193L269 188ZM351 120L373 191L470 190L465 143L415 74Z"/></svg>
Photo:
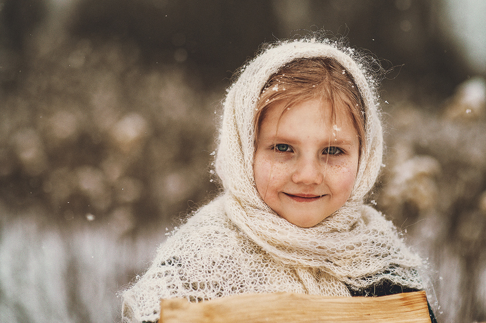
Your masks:
<svg viewBox="0 0 486 323"><path fill-rule="evenodd" d="M318 99L268 107L260 123L254 173L263 201L292 224L311 227L341 208L358 170L357 131L344 103Z"/></svg>

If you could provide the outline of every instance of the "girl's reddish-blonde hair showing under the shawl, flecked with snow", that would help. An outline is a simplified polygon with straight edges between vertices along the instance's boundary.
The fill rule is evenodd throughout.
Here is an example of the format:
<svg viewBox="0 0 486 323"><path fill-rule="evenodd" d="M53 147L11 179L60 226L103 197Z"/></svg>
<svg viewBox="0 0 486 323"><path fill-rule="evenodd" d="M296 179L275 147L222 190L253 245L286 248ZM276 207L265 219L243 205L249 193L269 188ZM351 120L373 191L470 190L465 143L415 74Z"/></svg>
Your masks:
<svg viewBox="0 0 486 323"><path fill-rule="evenodd" d="M311 100L323 99L330 102L335 118L336 100L347 107L359 140L359 155L364 149L364 100L347 70L333 58L299 58L282 66L272 75L260 92L255 114L255 139L268 108L281 101L286 107ZM255 141L255 143L257 143ZM256 145L255 145L256 146Z"/></svg>

